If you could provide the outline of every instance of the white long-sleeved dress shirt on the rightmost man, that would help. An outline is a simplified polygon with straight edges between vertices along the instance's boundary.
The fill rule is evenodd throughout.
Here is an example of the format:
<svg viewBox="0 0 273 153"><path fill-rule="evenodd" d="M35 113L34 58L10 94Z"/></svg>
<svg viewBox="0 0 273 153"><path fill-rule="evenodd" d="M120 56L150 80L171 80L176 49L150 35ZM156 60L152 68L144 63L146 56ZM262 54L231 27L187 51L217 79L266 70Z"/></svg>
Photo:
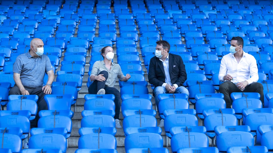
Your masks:
<svg viewBox="0 0 273 153"><path fill-rule="evenodd" d="M239 63L237 63L234 54L229 53L228 55L223 56L218 79L223 81L226 74L231 75L236 82L247 81L248 84L257 82L259 79L255 58L244 51L243 57Z"/></svg>

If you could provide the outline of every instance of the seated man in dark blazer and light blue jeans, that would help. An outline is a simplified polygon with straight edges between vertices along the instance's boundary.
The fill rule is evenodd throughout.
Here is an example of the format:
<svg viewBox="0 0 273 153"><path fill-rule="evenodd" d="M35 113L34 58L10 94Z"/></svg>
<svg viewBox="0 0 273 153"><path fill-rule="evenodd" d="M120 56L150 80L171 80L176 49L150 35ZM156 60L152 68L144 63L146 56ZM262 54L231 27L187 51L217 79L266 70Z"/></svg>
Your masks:
<svg viewBox="0 0 273 153"><path fill-rule="evenodd" d="M160 93L186 93L183 83L187 79L185 65L179 55L169 54L170 44L167 41L156 42L155 56L150 60L148 79L153 84L154 98L158 109ZM164 127L164 120L160 120L159 127Z"/></svg>

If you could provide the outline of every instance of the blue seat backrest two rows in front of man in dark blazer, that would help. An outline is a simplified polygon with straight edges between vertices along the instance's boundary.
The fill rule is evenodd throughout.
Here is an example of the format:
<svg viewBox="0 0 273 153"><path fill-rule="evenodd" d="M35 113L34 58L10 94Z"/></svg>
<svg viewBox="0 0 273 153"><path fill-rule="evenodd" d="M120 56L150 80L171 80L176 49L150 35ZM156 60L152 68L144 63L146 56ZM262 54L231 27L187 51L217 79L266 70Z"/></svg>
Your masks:
<svg viewBox="0 0 273 153"><path fill-rule="evenodd" d="M164 129L169 132L171 127L198 126L198 120L191 114L172 114L164 119Z"/></svg>

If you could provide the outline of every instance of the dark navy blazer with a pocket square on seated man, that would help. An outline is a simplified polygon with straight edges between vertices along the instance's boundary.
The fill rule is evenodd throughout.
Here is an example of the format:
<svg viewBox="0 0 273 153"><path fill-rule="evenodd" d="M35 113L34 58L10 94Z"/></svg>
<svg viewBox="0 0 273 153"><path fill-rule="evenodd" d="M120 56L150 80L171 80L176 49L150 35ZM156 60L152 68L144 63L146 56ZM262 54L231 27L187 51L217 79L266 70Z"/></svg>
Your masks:
<svg viewBox="0 0 273 153"><path fill-rule="evenodd" d="M171 83L177 84L178 87L183 86L187 80L187 73L181 56L169 53L169 76ZM149 83L155 87L166 83L163 63L155 56L150 60L148 79Z"/></svg>

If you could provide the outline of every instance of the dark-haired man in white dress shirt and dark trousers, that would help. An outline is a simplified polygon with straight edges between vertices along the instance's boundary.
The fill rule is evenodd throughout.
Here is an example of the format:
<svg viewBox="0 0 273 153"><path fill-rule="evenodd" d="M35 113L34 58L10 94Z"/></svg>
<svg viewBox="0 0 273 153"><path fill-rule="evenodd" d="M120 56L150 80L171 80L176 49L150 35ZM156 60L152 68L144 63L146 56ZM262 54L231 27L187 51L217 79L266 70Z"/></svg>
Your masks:
<svg viewBox="0 0 273 153"><path fill-rule="evenodd" d="M241 37L232 37L230 45L230 54L223 56L218 76L220 81L225 81L220 84L219 91L224 94L226 108L231 106L230 94L233 92L260 93L264 104L263 86L257 83L259 75L255 58L243 51Z"/></svg>

